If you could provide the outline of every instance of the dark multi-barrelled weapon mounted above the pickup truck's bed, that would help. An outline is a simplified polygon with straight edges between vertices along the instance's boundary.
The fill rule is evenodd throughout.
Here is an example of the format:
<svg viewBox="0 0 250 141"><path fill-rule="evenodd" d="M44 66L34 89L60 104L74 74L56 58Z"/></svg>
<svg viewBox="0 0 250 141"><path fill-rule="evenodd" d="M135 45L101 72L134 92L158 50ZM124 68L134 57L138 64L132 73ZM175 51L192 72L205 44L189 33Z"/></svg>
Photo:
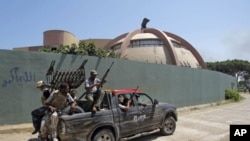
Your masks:
<svg viewBox="0 0 250 141"><path fill-rule="evenodd" d="M62 82L68 83L70 89L78 88L85 81L86 76L84 65L87 61L88 60L85 59L76 70L54 71L55 60L52 60L46 73L47 84L49 84L52 90L57 89Z"/></svg>

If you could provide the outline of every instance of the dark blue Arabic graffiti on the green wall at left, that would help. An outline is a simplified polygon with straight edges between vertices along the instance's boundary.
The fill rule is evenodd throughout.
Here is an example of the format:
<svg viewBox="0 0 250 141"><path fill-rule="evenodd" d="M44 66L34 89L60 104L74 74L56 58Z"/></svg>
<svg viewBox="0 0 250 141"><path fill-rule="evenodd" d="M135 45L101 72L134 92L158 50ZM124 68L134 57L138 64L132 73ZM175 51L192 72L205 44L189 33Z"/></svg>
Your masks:
<svg viewBox="0 0 250 141"><path fill-rule="evenodd" d="M35 82L36 74L31 71L20 71L20 67L13 67L9 70L10 77L2 80L1 86L7 87L14 83L28 83L28 82Z"/></svg>

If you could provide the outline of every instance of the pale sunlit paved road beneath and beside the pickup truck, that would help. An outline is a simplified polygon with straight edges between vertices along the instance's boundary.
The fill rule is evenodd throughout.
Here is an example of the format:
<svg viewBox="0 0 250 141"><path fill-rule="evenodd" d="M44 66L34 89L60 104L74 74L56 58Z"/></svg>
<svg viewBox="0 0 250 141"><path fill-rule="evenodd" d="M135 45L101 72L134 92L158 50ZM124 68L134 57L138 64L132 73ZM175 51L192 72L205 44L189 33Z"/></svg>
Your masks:
<svg viewBox="0 0 250 141"><path fill-rule="evenodd" d="M179 121L174 135L159 133L132 141L229 141L230 124L250 124L250 94L238 103L208 106L179 112ZM35 138L30 132L0 134L1 141L28 141Z"/></svg>

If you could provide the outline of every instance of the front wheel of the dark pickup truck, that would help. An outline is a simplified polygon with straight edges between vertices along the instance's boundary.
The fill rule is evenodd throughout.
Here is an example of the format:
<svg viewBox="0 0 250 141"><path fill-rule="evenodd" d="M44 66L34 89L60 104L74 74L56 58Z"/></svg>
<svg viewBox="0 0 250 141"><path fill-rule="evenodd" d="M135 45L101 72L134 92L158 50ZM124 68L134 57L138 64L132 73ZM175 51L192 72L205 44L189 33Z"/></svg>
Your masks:
<svg viewBox="0 0 250 141"><path fill-rule="evenodd" d="M172 116L166 117L163 121L161 129L161 133L163 135L172 135L176 128L176 121Z"/></svg>

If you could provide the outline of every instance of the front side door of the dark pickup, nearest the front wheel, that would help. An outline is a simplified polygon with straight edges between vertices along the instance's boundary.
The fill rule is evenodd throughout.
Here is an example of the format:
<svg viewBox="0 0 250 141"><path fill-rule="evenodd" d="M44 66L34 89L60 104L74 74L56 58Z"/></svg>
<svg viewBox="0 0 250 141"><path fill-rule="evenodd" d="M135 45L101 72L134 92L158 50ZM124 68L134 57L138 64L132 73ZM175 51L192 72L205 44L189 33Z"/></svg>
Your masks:
<svg viewBox="0 0 250 141"><path fill-rule="evenodd" d="M162 122L162 112L156 108L153 99L147 94L141 93L135 97L140 112L138 120L140 131L155 129Z"/></svg>

